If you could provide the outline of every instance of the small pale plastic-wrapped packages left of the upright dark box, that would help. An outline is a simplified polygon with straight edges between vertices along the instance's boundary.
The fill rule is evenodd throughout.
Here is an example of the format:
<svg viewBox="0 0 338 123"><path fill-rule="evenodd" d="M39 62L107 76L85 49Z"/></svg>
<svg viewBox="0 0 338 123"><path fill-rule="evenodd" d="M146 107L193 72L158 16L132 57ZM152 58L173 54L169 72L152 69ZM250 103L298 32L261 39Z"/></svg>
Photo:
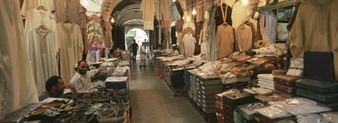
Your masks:
<svg viewBox="0 0 338 123"><path fill-rule="evenodd" d="M287 71L287 75L302 76L304 68L303 61L303 58L292 58L290 61L291 65L289 67L289 71Z"/></svg>

